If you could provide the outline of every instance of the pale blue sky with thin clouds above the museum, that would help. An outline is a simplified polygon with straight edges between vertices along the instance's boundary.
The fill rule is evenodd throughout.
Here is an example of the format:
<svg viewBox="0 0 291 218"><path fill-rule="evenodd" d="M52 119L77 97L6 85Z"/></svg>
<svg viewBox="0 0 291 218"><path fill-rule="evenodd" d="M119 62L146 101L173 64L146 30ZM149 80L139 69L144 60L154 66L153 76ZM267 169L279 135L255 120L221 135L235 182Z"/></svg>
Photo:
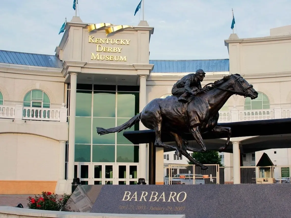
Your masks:
<svg viewBox="0 0 291 218"><path fill-rule="evenodd" d="M85 23L137 25L140 0L79 0L78 15ZM108 2L108 3L106 3ZM73 0L9 0L0 7L0 49L55 54L65 17L75 11ZM144 0L145 20L155 28L150 59L228 58L224 40L233 8L235 33L240 38L269 35L269 29L291 24L290 0Z"/></svg>

